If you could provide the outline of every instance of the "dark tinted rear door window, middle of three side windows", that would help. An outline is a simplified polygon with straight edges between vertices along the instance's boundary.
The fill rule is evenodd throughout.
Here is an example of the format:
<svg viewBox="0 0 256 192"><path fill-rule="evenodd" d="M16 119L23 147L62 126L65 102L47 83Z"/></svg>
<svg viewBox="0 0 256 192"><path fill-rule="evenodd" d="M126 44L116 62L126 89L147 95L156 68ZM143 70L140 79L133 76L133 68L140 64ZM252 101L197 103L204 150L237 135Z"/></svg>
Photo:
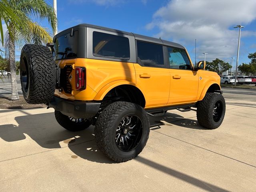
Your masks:
<svg viewBox="0 0 256 192"><path fill-rule="evenodd" d="M137 41L138 63L143 66L164 67L163 46Z"/></svg>

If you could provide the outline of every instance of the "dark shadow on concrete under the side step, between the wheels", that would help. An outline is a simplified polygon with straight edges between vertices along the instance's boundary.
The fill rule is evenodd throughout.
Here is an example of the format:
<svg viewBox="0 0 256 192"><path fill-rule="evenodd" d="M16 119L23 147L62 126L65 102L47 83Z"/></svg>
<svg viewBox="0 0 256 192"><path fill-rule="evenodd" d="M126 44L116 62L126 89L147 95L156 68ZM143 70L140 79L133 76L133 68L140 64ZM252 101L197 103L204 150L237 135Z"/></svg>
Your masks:
<svg viewBox="0 0 256 192"><path fill-rule="evenodd" d="M196 114L195 114L196 116ZM181 126L190 129L198 129L198 130L207 130L206 128L200 126L197 120L187 119L183 116L180 116L175 113L167 112L164 116L159 117L150 117L150 129L156 130L161 128L161 125L167 126Z"/></svg>

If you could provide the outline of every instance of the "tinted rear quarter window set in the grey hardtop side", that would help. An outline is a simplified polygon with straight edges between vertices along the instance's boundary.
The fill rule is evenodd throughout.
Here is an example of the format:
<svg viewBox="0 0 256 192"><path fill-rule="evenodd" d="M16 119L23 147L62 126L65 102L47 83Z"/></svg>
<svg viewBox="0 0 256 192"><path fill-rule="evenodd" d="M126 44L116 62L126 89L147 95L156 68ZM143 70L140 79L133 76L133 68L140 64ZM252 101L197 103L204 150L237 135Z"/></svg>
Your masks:
<svg viewBox="0 0 256 192"><path fill-rule="evenodd" d="M130 59L130 45L127 37L94 31L92 34L93 55L115 59Z"/></svg>

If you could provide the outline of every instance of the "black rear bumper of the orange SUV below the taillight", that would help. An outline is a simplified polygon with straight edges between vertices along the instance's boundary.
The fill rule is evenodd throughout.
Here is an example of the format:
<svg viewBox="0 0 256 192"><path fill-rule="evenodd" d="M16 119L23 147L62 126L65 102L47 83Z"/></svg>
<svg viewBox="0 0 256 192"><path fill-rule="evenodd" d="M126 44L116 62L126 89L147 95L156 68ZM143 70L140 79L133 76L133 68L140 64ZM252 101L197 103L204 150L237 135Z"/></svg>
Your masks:
<svg viewBox="0 0 256 192"><path fill-rule="evenodd" d="M98 113L100 104L101 102L70 101L54 96L46 105L60 111L66 116L92 118Z"/></svg>

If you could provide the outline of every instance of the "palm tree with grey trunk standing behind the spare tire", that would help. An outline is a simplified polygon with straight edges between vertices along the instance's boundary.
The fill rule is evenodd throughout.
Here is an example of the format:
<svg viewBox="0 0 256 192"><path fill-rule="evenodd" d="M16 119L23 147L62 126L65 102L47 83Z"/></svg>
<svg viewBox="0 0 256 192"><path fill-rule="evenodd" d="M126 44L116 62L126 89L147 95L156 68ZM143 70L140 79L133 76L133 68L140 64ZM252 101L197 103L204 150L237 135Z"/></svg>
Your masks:
<svg viewBox="0 0 256 192"><path fill-rule="evenodd" d="M22 27L16 24L11 18L4 16L8 26L8 33L5 37L6 54L10 62L12 100L19 99L16 82L15 65L15 44L22 47L24 44L43 44L52 42L52 37L47 28L41 27L32 19L48 19L52 30L56 28L57 18L54 9L46 4L44 0L4 0L7 7L22 21Z"/></svg>

